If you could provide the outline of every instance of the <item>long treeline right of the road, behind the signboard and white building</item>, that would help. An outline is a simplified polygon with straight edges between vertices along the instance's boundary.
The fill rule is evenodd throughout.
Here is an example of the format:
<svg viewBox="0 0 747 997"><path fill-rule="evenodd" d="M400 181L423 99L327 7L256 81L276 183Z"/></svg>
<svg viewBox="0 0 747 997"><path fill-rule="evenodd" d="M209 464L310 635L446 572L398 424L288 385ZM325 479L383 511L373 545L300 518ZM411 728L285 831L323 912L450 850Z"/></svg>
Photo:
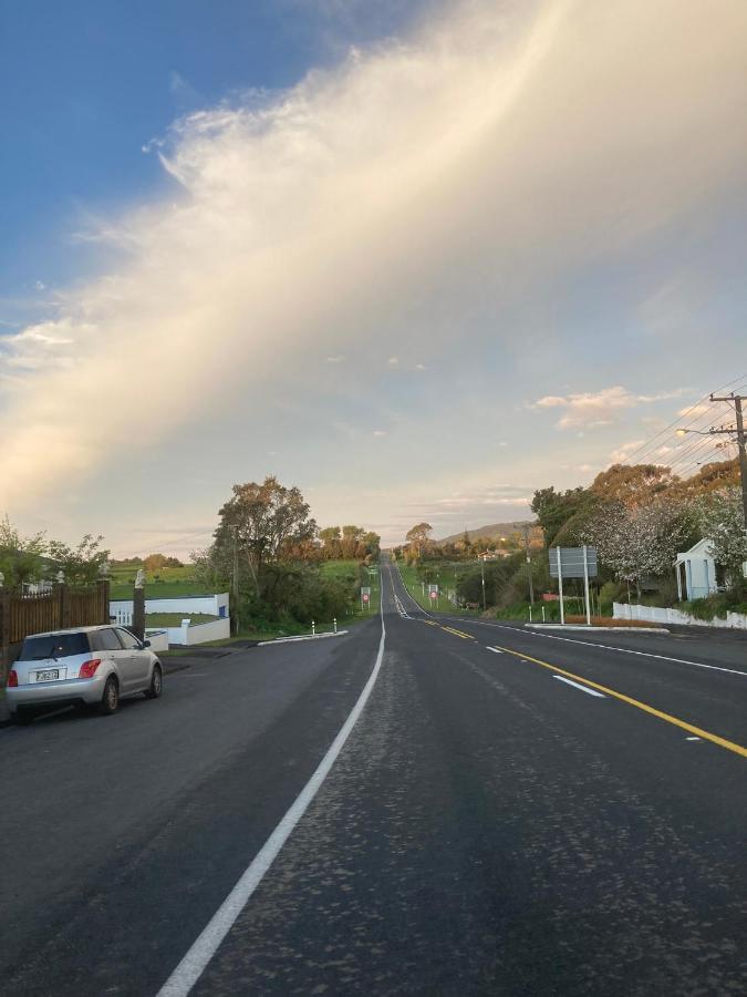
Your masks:
<svg viewBox="0 0 747 997"><path fill-rule="evenodd" d="M588 487L535 492L531 510L537 520L527 537L528 552L521 534L498 543L495 537L470 543L465 533L461 541L438 544L430 538L429 524L419 523L395 554L414 563L423 580L436 580L437 564L452 565L446 576L454 579L460 603L477 607L485 598L487 606L500 610L526 603L530 572L536 595L557 593L549 576L551 546L594 545L600 556L596 594L610 608L614 599L641 598L645 593L672 605L677 554L708 537L725 589L718 597L720 610L741 605L745 598L747 531L738 483L737 461L707 464L691 477L661 464L614 464ZM478 564L486 552L495 553ZM574 587L571 583L567 593Z"/></svg>

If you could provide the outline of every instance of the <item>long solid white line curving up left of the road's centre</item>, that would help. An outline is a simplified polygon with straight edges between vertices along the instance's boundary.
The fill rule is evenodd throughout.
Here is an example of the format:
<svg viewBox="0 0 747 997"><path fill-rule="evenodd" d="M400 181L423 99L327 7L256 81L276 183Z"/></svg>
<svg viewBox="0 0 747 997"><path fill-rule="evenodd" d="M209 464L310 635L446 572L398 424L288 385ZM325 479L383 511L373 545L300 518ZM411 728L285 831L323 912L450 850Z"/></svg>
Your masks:
<svg viewBox="0 0 747 997"><path fill-rule="evenodd" d="M278 826L264 842L260 851L257 853L252 862L241 875L236 886L228 894L220 907L210 918L208 925L193 943L191 947L181 959L176 969L168 977L163 987L158 990L157 997L186 997L197 980L205 972L206 966L220 947L221 942L229 933L241 911L247 905L252 893L262 882L264 874L268 872L274 860L278 857L281 849L292 834L295 825L299 823L303 814L309 809L312 800L322 787L332 765L336 761L342 751L345 741L350 737L355 723L363 712L369 701L369 697L373 690L378 672L381 671L382 661L384 660L384 645L386 639L386 627L384 626L384 594L381 597L381 620L382 637L378 643L378 654L373 670L369 676L369 680L363 687L355 706L350 716L343 723L336 738L330 746L326 754L319 763L317 771L303 787L301 792L286 812Z"/></svg>

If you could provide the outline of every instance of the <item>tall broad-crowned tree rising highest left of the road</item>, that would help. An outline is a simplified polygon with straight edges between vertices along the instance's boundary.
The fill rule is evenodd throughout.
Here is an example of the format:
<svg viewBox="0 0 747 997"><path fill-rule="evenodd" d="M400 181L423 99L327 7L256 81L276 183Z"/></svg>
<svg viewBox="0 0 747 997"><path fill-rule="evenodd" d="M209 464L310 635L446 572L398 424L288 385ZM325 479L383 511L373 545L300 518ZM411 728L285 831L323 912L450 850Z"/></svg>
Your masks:
<svg viewBox="0 0 747 997"><path fill-rule="evenodd" d="M232 492L218 513L216 542L228 552L236 544L255 593L261 598L266 590L264 565L281 561L292 545L313 538L317 523L310 518L310 506L299 489L284 487L274 475L266 477L262 484L236 484Z"/></svg>

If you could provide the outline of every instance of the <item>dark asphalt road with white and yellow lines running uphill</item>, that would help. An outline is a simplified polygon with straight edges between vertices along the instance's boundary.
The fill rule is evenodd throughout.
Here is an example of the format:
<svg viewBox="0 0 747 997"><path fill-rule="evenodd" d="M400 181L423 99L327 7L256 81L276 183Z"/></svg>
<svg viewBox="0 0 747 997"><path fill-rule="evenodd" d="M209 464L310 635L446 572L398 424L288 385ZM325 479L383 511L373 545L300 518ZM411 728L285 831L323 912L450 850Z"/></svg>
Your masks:
<svg viewBox="0 0 747 997"><path fill-rule="evenodd" d="M745 993L747 641L382 588L0 731L4 995Z"/></svg>

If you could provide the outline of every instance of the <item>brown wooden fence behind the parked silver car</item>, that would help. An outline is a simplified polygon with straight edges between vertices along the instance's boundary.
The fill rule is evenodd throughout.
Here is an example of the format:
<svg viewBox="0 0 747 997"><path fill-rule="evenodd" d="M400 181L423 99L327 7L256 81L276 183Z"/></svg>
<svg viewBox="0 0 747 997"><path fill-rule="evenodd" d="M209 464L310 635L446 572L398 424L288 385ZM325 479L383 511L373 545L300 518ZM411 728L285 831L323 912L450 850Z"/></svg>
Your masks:
<svg viewBox="0 0 747 997"><path fill-rule="evenodd" d="M0 588L0 676L18 654L18 646L30 634L65 630L69 627L108 623L108 582L76 592L55 585L41 595L23 595Z"/></svg>

